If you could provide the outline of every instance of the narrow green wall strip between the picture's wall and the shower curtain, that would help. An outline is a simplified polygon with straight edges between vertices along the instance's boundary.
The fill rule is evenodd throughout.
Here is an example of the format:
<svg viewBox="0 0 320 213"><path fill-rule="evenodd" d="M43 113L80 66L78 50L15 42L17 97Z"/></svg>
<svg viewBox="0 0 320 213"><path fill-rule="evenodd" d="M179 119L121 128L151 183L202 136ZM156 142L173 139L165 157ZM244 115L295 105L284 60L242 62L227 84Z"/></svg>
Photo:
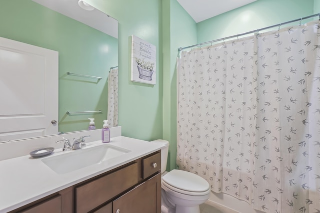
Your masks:
<svg viewBox="0 0 320 213"><path fill-rule="evenodd" d="M196 23L176 0L163 0L163 139L170 142L167 170L176 168L176 57L196 42ZM165 8L165 9L164 9ZM169 11L169 12L167 12Z"/></svg>

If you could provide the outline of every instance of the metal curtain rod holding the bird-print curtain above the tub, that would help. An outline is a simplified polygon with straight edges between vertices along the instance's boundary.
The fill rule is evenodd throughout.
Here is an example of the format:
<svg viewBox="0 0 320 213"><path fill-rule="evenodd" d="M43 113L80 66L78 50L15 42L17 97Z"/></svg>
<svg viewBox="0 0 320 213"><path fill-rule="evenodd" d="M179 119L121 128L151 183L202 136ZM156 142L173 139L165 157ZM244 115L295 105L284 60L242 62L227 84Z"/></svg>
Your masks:
<svg viewBox="0 0 320 213"><path fill-rule="evenodd" d="M312 17L315 17L315 16L319 16L319 19L320 19L320 13L317 13L317 14L313 14L313 15L297 18L297 19L294 19L294 20L286 21L286 22L283 22L283 23L275 24L275 25L272 25L272 26L267 26L267 27L264 27L264 28L260 28L260 29L256 29L256 30L252 30L252 31L248 31L248 32L244 32L244 33L240 33L240 34L224 37L224 38L219 38L219 39L215 39L215 40L211 40L211 41L206 41L206 42L194 44L194 45L191 45L191 46L179 47L178 51L182 51L183 49L187 49L187 48L191 48L191 47L195 47L195 46L201 46L203 44L208 44L208 43L212 43L212 42L216 42L216 41L222 41L222 40L224 41L226 39L239 37L239 36L242 36L242 35L258 32L258 31L262 31L262 30L269 29L269 28L272 28L272 27L275 27L275 26L279 26L279 29L280 29L281 25L284 25L284 24L287 24L287 23L292 23L292 22L295 22L295 21L300 21L300 24L301 24L301 21L303 19L312 18Z"/></svg>

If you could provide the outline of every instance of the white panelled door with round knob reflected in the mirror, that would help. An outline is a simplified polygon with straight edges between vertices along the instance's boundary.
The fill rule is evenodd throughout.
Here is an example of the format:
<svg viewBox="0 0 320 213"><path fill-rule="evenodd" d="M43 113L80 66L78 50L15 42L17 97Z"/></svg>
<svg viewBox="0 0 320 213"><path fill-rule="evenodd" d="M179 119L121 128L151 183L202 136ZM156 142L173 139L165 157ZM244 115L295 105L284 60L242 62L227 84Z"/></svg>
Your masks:
<svg viewBox="0 0 320 213"><path fill-rule="evenodd" d="M0 142L57 134L57 120L58 52L0 37Z"/></svg>

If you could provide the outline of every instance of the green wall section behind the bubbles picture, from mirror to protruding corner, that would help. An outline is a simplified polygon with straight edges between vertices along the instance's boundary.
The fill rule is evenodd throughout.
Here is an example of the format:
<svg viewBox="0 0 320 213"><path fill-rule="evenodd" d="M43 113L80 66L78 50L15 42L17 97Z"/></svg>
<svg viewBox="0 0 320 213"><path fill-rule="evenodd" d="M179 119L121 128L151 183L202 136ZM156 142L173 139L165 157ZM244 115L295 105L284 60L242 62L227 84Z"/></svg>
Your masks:
<svg viewBox="0 0 320 213"><path fill-rule="evenodd" d="M87 0L118 20L119 125L122 135L142 140L162 138L161 0ZM156 47L156 84L130 80L130 36Z"/></svg>

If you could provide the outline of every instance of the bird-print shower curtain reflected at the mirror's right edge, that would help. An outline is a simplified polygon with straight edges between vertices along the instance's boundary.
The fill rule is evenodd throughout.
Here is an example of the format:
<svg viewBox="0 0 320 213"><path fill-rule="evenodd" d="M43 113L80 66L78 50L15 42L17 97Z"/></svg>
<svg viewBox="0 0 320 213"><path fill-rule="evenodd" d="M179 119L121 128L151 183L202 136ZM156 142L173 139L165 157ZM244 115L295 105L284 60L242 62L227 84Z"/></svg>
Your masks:
<svg viewBox="0 0 320 213"><path fill-rule="evenodd" d="M107 120L111 127L118 126L118 68L109 72Z"/></svg>

